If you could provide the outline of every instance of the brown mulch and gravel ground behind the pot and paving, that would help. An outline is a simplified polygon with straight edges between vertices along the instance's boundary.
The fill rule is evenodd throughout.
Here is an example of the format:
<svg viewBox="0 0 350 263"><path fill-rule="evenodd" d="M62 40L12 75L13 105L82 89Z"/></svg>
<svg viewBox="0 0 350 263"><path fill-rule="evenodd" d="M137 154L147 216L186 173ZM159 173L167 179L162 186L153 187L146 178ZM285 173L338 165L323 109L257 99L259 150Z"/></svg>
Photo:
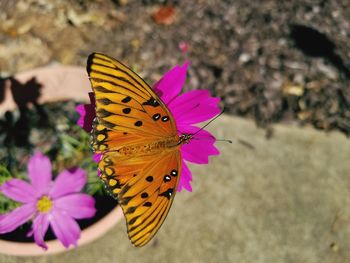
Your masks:
<svg viewBox="0 0 350 263"><path fill-rule="evenodd" d="M189 59L187 89L210 89L229 113L267 128L297 122L350 134L348 0L0 0L0 9L3 77L84 65L99 51L153 83Z"/></svg>

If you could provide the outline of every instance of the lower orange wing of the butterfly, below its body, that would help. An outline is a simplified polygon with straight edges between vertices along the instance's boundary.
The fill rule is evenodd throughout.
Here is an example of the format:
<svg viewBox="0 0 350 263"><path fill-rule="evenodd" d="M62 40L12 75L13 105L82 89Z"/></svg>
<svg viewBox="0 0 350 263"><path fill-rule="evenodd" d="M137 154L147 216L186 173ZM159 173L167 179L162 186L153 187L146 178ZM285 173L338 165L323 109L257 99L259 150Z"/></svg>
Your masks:
<svg viewBox="0 0 350 263"><path fill-rule="evenodd" d="M144 246L163 224L174 200L180 151L124 159L108 152L99 169L123 209L129 239L135 246Z"/></svg>

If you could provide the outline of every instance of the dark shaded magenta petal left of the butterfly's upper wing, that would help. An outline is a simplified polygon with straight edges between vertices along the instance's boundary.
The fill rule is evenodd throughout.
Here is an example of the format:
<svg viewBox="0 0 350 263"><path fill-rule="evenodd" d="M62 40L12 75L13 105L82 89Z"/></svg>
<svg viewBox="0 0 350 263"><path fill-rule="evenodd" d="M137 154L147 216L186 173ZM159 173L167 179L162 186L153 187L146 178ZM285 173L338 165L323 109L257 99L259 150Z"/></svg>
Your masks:
<svg viewBox="0 0 350 263"><path fill-rule="evenodd" d="M95 112L95 96L93 92L89 92L90 104L79 104L75 110L79 113L80 118L77 121L78 125L85 131L90 132L92 129L92 122L96 117Z"/></svg>

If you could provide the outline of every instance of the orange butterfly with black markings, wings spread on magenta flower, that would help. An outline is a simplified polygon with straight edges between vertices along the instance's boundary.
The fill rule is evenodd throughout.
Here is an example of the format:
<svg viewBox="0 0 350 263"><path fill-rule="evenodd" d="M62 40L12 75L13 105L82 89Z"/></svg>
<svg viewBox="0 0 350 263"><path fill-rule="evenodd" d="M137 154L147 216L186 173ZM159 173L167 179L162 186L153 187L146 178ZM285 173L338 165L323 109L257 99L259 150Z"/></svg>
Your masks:
<svg viewBox="0 0 350 263"><path fill-rule="evenodd" d="M130 241L141 247L169 212L181 173L180 147L193 135L178 135L159 96L116 59L93 53L87 72L96 103L91 144L101 154L101 179L124 212Z"/></svg>

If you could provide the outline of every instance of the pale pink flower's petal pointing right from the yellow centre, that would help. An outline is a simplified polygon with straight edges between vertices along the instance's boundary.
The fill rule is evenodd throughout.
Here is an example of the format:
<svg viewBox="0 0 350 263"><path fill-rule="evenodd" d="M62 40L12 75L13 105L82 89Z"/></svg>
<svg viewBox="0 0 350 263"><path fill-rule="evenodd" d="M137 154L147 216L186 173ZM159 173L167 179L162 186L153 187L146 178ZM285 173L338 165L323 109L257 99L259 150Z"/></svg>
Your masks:
<svg viewBox="0 0 350 263"><path fill-rule="evenodd" d="M76 219L90 218L96 213L95 199L87 194L71 194L55 200L55 208Z"/></svg>

